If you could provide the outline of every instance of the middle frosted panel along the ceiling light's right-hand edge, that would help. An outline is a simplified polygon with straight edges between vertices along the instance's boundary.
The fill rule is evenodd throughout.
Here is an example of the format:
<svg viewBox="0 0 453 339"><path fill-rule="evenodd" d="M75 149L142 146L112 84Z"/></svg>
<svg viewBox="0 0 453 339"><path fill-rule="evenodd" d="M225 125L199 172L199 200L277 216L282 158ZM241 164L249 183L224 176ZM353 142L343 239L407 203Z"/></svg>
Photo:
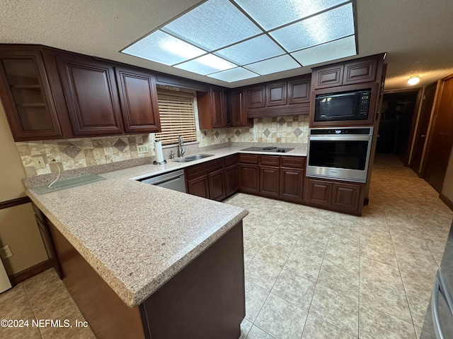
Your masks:
<svg viewBox="0 0 453 339"><path fill-rule="evenodd" d="M270 32L270 35L288 52L294 52L354 33L352 4L347 4Z"/></svg>

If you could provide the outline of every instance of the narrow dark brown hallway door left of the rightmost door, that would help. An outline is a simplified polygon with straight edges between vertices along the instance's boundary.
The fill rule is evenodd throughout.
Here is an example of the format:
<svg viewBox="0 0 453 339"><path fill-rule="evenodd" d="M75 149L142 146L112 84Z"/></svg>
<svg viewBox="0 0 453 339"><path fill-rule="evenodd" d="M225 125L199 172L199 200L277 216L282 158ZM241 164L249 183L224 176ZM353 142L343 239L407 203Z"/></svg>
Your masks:
<svg viewBox="0 0 453 339"><path fill-rule="evenodd" d="M437 83L432 83L425 88L425 98L423 100L422 109L420 111L420 119L418 119L418 127L415 132L415 142L413 147L413 155L411 168L418 177L421 176L421 161L423 148L425 148L426 136L428 135L428 127L430 124L432 104L436 95Z"/></svg>

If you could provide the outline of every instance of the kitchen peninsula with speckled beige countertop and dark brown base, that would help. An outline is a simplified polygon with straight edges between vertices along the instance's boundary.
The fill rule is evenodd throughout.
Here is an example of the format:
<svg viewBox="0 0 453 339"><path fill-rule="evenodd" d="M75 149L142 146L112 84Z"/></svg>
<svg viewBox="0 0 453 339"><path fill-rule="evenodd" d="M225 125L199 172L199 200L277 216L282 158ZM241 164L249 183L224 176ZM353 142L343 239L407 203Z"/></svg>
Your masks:
<svg viewBox="0 0 453 339"><path fill-rule="evenodd" d="M151 168L28 189L64 283L98 338L239 338L247 211L130 179Z"/></svg>

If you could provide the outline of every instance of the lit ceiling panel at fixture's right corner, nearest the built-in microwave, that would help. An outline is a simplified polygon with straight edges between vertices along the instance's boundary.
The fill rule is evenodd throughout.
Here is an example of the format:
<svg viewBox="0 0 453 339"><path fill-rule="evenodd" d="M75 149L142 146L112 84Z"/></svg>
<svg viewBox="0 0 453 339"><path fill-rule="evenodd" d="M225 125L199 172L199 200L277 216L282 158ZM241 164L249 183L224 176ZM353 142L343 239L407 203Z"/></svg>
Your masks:
<svg viewBox="0 0 453 339"><path fill-rule="evenodd" d="M355 54L357 54L355 48L355 35L291 53L291 55L303 66L351 57Z"/></svg>

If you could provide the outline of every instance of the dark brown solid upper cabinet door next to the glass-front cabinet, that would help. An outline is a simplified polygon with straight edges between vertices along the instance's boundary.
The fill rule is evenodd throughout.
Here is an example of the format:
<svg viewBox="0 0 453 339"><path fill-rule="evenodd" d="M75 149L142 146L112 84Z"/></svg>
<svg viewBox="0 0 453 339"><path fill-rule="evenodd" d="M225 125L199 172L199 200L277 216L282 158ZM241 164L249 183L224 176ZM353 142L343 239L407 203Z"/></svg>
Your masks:
<svg viewBox="0 0 453 339"><path fill-rule="evenodd" d="M91 57L71 54L59 54L57 64L74 135L122 133L113 66Z"/></svg>

